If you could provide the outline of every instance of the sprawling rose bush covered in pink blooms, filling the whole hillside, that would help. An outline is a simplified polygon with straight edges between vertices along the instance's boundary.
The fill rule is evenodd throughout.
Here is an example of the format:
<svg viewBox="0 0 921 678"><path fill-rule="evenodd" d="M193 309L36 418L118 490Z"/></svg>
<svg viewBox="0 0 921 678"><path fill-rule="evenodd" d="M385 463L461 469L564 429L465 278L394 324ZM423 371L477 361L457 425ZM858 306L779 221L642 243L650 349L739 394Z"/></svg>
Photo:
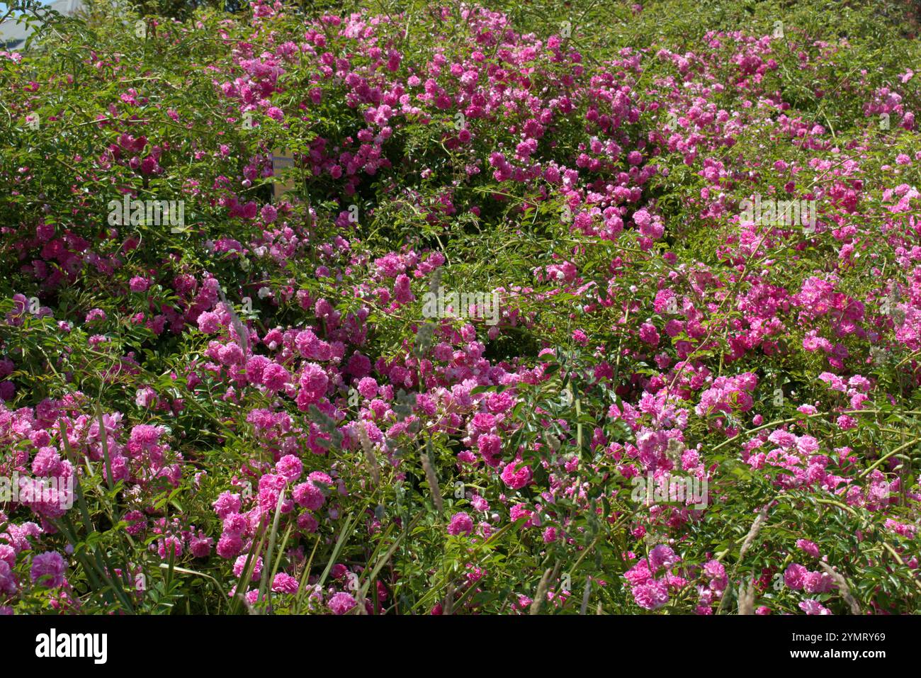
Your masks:
<svg viewBox="0 0 921 678"><path fill-rule="evenodd" d="M0 52L0 610L914 611L921 62L837 7Z"/></svg>

